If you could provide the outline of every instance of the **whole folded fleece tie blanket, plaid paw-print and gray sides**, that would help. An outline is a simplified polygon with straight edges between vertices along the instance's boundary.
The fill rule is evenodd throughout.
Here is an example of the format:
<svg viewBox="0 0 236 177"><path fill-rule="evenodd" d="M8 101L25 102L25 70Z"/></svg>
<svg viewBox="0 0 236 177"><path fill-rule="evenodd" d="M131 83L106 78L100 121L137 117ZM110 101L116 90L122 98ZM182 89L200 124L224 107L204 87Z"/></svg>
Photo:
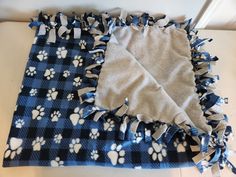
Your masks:
<svg viewBox="0 0 236 177"><path fill-rule="evenodd" d="M3 166L227 165L218 58L190 20L40 13Z"/></svg>

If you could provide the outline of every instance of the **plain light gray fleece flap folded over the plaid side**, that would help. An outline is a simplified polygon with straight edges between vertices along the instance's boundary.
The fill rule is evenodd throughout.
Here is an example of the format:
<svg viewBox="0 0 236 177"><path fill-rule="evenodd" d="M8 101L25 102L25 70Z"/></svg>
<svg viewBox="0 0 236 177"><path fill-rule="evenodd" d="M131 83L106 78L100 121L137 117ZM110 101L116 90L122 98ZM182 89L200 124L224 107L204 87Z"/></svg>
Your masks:
<svg viewBox="0 0 236 177"><path fill-rule="evenodd" d="M107 109L129 99L141 121L187 123L211 132L195 93L187 35L174 27L117 27L108 43L95 104Z"/></svg>

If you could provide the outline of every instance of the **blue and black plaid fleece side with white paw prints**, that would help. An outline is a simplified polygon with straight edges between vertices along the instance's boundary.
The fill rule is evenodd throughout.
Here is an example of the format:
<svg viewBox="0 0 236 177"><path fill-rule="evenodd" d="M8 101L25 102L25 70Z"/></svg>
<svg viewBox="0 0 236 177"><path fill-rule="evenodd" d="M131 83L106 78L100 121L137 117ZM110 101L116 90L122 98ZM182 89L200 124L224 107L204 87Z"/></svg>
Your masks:
<svg viewBox="0 0 236 177"><path fill-rule="evenodd" d="M106 28L117 25L109 24L109 18L93 14L84 14L81 19L65 18L61 13L53 17L40 14L38 21L31 23L38 29L13 116L4 167L194 165L192 158L199 152L192 152L190 145L196 142L182 130L172 127L174 133L168 144L162 140L146 141L141 129L135 135L127 131L126 136L132 138L121 140L119 120L113 115L97 122L93 114L82 116L93 101L82 101L78 90L97 86L110 37ZM137 20L134 17L133 23ZM85 95L86 99L93 96L92 92Z"/></svg>

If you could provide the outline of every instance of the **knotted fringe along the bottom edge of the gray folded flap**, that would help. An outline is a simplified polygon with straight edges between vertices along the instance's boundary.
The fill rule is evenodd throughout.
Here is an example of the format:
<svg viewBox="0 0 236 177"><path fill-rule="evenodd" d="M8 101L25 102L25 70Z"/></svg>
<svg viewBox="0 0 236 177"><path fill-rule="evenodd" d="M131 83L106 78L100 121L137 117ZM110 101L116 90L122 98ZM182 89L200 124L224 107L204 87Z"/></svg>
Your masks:
<svg viewBox="0 0 236 177"><path fill-rule="evenodd" d="M94 88L86 88L86 89L80 89L78 92L83 93L83 91L88 90L89 92L84 93L83 95L86 96L80 96L81 102L87 102L91 103L94 102L95 94L91 94L92 91L94 91ZM88 96L89 95L89 96ZM141 131L143 136L143 139L146 142L151 141L152 139L156 141L164 141L165 143L169 143L173 136L180 130L183 129L188 132L188 134L191 134L192 136L196 136L197 134L192 133L192 130L195 128L192 127L192 129L188 128L188 126L184 125L170 125L162 122L145 122L144 117L141 114L138 114L136 117L127 115L128 111L128 99L125 99L124 104L118 106L117 108L113 110L104 109L101 107L98 107L96 105L88 105L84 108L82 118L87 118L88 116L94 114L93 120L104 120L106 118L112 118L117 124L120 125L120 131L119 131L119 139L120 140L134 140L137 131ZM155 125L155 127L154 127ZM186 128L187 127L187 128ZM129 130L129 131L127 131ZM131 132L132 137L127 137L127 133ZM193 131L194 132L194 131Z"/></svg>

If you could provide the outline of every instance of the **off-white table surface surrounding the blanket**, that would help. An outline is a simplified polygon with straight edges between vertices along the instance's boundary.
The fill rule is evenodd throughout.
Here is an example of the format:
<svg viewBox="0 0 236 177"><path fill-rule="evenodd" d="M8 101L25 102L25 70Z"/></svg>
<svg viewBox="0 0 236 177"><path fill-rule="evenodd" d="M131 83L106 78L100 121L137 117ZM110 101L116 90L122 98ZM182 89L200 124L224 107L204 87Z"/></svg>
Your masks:
<svg viewBox="0 0 236 177"><path fill-rule="evenodd" d="M28 28L28 23L0 23L0 164L9 133L12 115L21 86L28 54L33 42L34 30ZM223 105L224 112L229 116L230 124L236 131L236 31L201 30L200 36L211 37L213 42L206 46L220 61L214 67L214 72L220 75L217 93L229 97L229 104ZM236 150L236 142L232 140L230 147ZM236 155L231 157L236 164ZM108 167L0 167L0 177L210 177L207 170L200 174L196 168L164 169L164 170L134 170ZM222 177L233 175L228 169L221 171Z"/></svg>

